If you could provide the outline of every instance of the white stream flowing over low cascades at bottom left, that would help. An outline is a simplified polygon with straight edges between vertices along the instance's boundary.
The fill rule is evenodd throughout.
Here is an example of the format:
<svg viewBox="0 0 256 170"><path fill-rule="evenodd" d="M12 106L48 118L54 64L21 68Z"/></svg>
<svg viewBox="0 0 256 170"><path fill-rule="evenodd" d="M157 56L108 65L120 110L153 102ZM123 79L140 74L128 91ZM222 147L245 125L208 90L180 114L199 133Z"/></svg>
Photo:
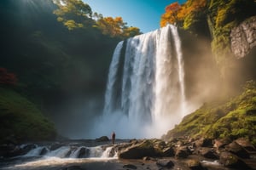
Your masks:
<svg viewBox="0 0 256 170"><path fill-rule="evenodd" d="M97 144L96 142L94 143ZM27 145L31 146L32 144ZM81 142L76 144L72 142L66 144L33 144L33 149L29 150L25 155L0 158L0 169L62 169L61 167L63 166L73 164L111 162L118 159L117 150L114 148L113 144L106 142L106 144L102 145L86 145L90 145L90 143L85 145Z"/></svg>

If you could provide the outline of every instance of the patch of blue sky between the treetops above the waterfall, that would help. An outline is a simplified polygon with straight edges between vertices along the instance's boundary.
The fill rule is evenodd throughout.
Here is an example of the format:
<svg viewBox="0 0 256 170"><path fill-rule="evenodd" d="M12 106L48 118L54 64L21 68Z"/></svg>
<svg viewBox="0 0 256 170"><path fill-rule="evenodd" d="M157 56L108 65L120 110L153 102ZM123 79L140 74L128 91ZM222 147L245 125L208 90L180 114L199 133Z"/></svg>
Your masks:
<svg viewBox="0 0 256 170"><path fill-rule="evenodd" d="M165 8L173 2L186 0L83 0L93 12L106 16L121 16L128 26L137 26L148 32L160 28L160 16Z"/></svg>

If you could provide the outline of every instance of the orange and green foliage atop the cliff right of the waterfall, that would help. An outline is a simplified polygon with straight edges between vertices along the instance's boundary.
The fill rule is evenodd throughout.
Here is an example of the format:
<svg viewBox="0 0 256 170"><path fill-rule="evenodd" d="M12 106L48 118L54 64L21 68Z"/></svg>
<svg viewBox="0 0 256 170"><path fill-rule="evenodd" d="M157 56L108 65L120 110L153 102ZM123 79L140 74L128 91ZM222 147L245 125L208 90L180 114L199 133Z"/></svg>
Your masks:
<svg viewBox="0 0 256 170"><path fill-rule="evenodd" d="M254 0L188 0L182 5L172 3L161 16L160 26L174 24L195 34L211 35L212 52L221 67L232 56L230 31L256 14ZM209 33L207 33L209 32Z"/></svg>

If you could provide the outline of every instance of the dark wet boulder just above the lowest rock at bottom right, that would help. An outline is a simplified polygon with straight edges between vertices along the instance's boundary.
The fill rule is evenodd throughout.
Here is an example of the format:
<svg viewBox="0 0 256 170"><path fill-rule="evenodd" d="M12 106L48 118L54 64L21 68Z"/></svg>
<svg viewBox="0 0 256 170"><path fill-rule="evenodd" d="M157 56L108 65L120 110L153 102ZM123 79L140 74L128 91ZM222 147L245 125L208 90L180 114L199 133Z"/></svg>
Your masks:
<svg viewBox="0 0 256 170"><path fill-rule="evenodd" d="M247 150L243 149L241 145L236 143L236 141L233 141L232 143L226 145L225 149L241 158L250 157L250 155L247 153Z"/></svg>

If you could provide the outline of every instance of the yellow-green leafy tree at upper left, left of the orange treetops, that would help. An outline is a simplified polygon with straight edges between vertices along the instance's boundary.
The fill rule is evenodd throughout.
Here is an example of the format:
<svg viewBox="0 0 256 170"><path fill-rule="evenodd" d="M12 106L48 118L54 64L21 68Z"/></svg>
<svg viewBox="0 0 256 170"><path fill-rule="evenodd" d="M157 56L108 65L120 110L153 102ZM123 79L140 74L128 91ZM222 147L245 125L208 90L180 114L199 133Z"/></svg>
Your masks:
<svg viewBox="0 0 256 170"><path fill-rule="evenodd" d="M67 26L68 30L93 25L92 11L87 3L81 0L54 0L54 3L58 6L54 11L57 20Z"/></svg>

